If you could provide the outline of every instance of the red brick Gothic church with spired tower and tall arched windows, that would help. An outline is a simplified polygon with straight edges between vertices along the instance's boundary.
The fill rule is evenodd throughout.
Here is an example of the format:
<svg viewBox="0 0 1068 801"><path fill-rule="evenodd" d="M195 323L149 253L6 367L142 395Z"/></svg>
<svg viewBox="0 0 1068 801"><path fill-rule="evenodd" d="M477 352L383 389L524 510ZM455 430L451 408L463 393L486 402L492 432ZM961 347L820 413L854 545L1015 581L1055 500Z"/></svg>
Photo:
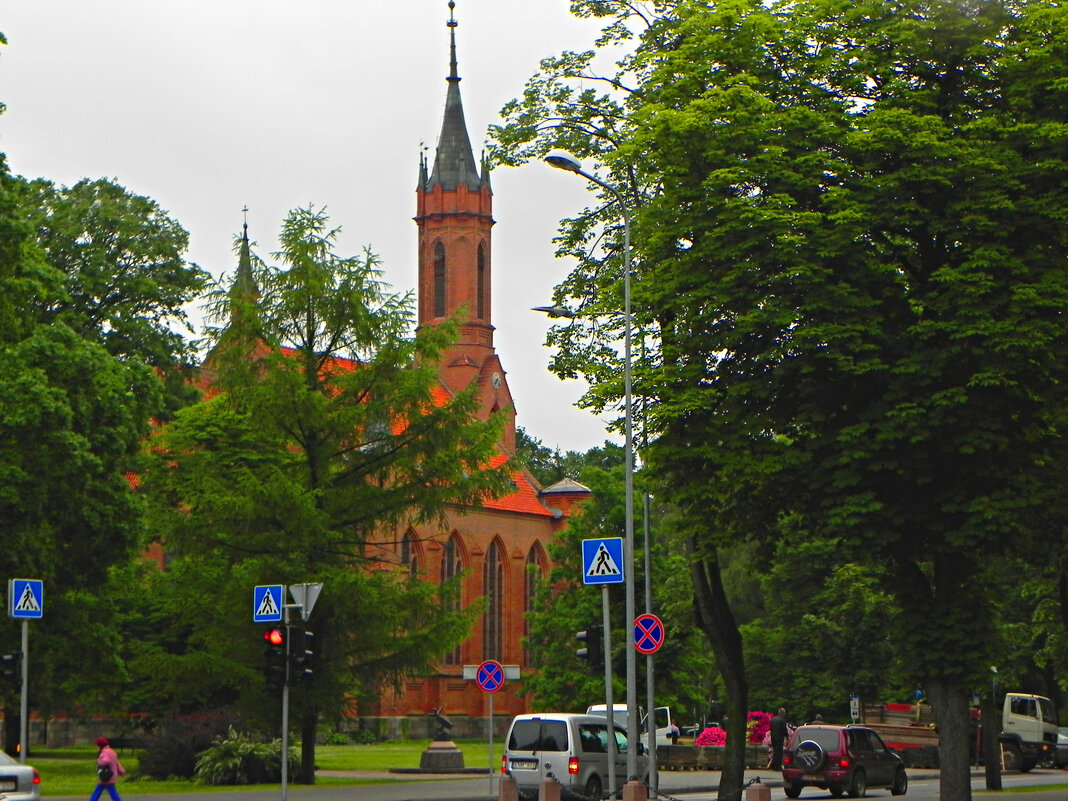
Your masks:
<svg viewBox="0 0 1068 801"><path fill-rule="evenodd" d="M450 9L453 3L449 3ZM501 451L516 446L516 409L507 373L493 348L492 277L493 193L489 167L475 160L460 103L456 63L456 21L449 20L450 65L445 111L433 164L421 155L415 188L419 225L419 326L439 325L461 314L459 337L446 351L439 375L442 389L459 392L472 383L482 396L482 414L503 412L506 425ZM455 650L443 654L433 675L409 680L400 692L386 691L361 717L393 719L419 717L441 709L454 724L454 734L485 732L488 693L464 676L465 665L496 660L534 668L521 639L524 613L532 608L535 580L549 570L548 543L567 525L574 505L588 490L571 481L543 489L524 470L513 473L514 491L478 511L456 508L444 528L420 527L398 531L396 545L383 561L407 565L434 581L467 574L461 602L480 597L487 611L471 635ZM515 682L493 693L493 714L507 720L527 711Z"/></svg>

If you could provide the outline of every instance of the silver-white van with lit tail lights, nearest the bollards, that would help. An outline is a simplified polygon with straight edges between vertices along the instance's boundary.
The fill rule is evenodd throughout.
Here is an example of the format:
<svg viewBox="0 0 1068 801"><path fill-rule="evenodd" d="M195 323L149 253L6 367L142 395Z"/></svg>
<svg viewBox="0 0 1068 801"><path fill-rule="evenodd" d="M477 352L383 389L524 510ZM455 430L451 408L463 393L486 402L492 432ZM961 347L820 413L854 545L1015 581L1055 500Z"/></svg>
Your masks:
<svg viewBox="0 0 1068 801"><path fill-rule="evenodd" d="M608 720L603 716L572 712L518 714L508 728L501 772L511 773L519 792L537 796L549 773L560 782L562 795L591 799L608 795ZM615 781L622 790L627 781L627 729L615 726ZM648 757L639 748L639 775L648 781Z"/></svg>

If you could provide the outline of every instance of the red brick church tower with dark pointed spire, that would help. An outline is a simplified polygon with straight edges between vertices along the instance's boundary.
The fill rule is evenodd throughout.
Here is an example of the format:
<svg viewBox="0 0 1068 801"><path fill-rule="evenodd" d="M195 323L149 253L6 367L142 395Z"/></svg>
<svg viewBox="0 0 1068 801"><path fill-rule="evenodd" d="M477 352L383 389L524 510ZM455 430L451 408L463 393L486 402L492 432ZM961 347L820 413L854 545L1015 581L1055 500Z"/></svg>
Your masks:
<svg viewBox="0 0 1068 801"><path fill-rule="evenodd" d="M415 188L419 225L419 325L456 315L459 335L445 351L441 381L460 392L483 384L483 411L505 410L512 422L502 444L515 450L515 412L504 371L493 349L491 315L493 193L489 164L475 161L460 101L456 66L456 3L449 2L449 77L444 119L433 167L423 154Z"/></svg>

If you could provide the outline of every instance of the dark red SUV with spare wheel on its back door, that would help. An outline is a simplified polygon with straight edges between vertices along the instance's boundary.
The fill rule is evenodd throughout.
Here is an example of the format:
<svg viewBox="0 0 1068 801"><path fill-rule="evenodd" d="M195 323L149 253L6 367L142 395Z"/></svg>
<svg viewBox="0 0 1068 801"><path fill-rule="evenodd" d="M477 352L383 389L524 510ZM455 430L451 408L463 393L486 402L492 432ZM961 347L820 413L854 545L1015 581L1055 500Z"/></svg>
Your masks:
<svg viewBox="0 0 1068 801"><path fill-rule="evenodd" d="M803 787L832 796L863 798L868 787L889 787L892 796L909 789L901 757L864 726L799 726L783 752L783 787L797 798Z"/></svg>

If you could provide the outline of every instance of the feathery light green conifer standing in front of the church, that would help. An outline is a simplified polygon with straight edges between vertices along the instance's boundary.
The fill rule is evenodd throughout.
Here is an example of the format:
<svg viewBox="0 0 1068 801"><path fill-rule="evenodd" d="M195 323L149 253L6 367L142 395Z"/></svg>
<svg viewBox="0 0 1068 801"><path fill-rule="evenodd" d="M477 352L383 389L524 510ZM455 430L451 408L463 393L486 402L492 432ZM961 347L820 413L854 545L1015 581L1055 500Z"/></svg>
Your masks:
<svg viewBox="0 0 1068 801"><path fill-rule="evenodd" d="M476 419L474 389L439 392L436 360L454 326L410 336L410 296L386 290L373 254L339 256L336 234L321 209L295 209L280 236L284 268L255 271L242 252L216 294L226 326L206 364L211 394L153 439L145 476L154 531L225 587L222 614L191 622L219 668L194 685L200 697L216 675L241 689L246 660L258 665L239 633L255 584L324 584L311 622L317 675L293 696L305 782L320 714L426 670L478 612L457 608L455 584L371 569L392 553L381 544L507 486L490 467L501 420ZM195 672L202 659L185 661ZM226 676L227 662L246 668Z"/></svg>

